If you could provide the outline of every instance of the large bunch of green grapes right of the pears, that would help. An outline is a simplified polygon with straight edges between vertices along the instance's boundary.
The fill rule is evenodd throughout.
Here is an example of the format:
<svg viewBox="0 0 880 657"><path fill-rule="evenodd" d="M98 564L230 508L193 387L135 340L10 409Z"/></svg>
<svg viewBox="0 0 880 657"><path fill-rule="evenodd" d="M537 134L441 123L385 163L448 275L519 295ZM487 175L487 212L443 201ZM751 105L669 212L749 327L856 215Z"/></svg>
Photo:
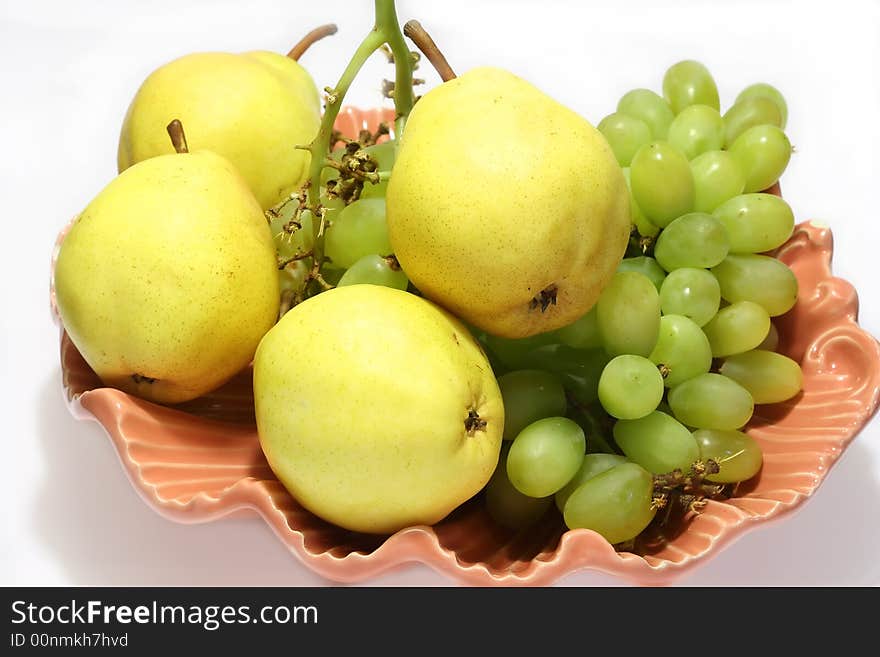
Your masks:
<svg viewBox="0 0 880 657"><path fill-rule="evenodd" d="M570 326L480 336L509 441L486 487L499 523L519 529L555 506L569 528L617 544L654 519L666 502L658 482L677 480L669 473L728 484L759 472L761 449L744 431L754 407L802 386L772 322L798 294L772 256L794 216L765 191L791 155L786 116L763 83L721 115L709 71L684 61L662 96L631 91L599 123L630 187L629 257Z"/></svg>

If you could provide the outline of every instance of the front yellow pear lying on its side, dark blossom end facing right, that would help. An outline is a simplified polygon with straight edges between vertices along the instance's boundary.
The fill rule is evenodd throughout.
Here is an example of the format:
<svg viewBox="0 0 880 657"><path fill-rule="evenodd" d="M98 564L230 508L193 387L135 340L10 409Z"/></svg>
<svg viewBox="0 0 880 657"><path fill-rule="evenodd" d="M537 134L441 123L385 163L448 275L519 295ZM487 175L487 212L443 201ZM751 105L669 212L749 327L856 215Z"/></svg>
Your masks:
<svg viewBox="0 0 880 657"><path fill-rule="evenodd" d="M433 303L376 285L295 306L254 357L263 452L328 522L392 533L433 524L479 492L504 407L486 356Z"/></svg>

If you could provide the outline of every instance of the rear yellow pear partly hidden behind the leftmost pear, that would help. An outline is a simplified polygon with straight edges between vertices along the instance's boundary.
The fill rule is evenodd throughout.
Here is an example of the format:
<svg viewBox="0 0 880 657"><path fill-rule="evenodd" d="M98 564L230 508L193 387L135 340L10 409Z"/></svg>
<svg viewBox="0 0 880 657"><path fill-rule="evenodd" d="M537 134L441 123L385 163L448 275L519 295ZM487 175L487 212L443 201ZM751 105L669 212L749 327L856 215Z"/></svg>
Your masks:
<svg viewBox="0 0 880 657"><path fill-rule="evenodd" d="M266 209L308 177L297 145L318 132L321 103L309 73L290 57L255 51L194 53L155 70L131 102L119 139L124 171L173 153L165 126L179 119L192 150L232 162Z"/></svg>

